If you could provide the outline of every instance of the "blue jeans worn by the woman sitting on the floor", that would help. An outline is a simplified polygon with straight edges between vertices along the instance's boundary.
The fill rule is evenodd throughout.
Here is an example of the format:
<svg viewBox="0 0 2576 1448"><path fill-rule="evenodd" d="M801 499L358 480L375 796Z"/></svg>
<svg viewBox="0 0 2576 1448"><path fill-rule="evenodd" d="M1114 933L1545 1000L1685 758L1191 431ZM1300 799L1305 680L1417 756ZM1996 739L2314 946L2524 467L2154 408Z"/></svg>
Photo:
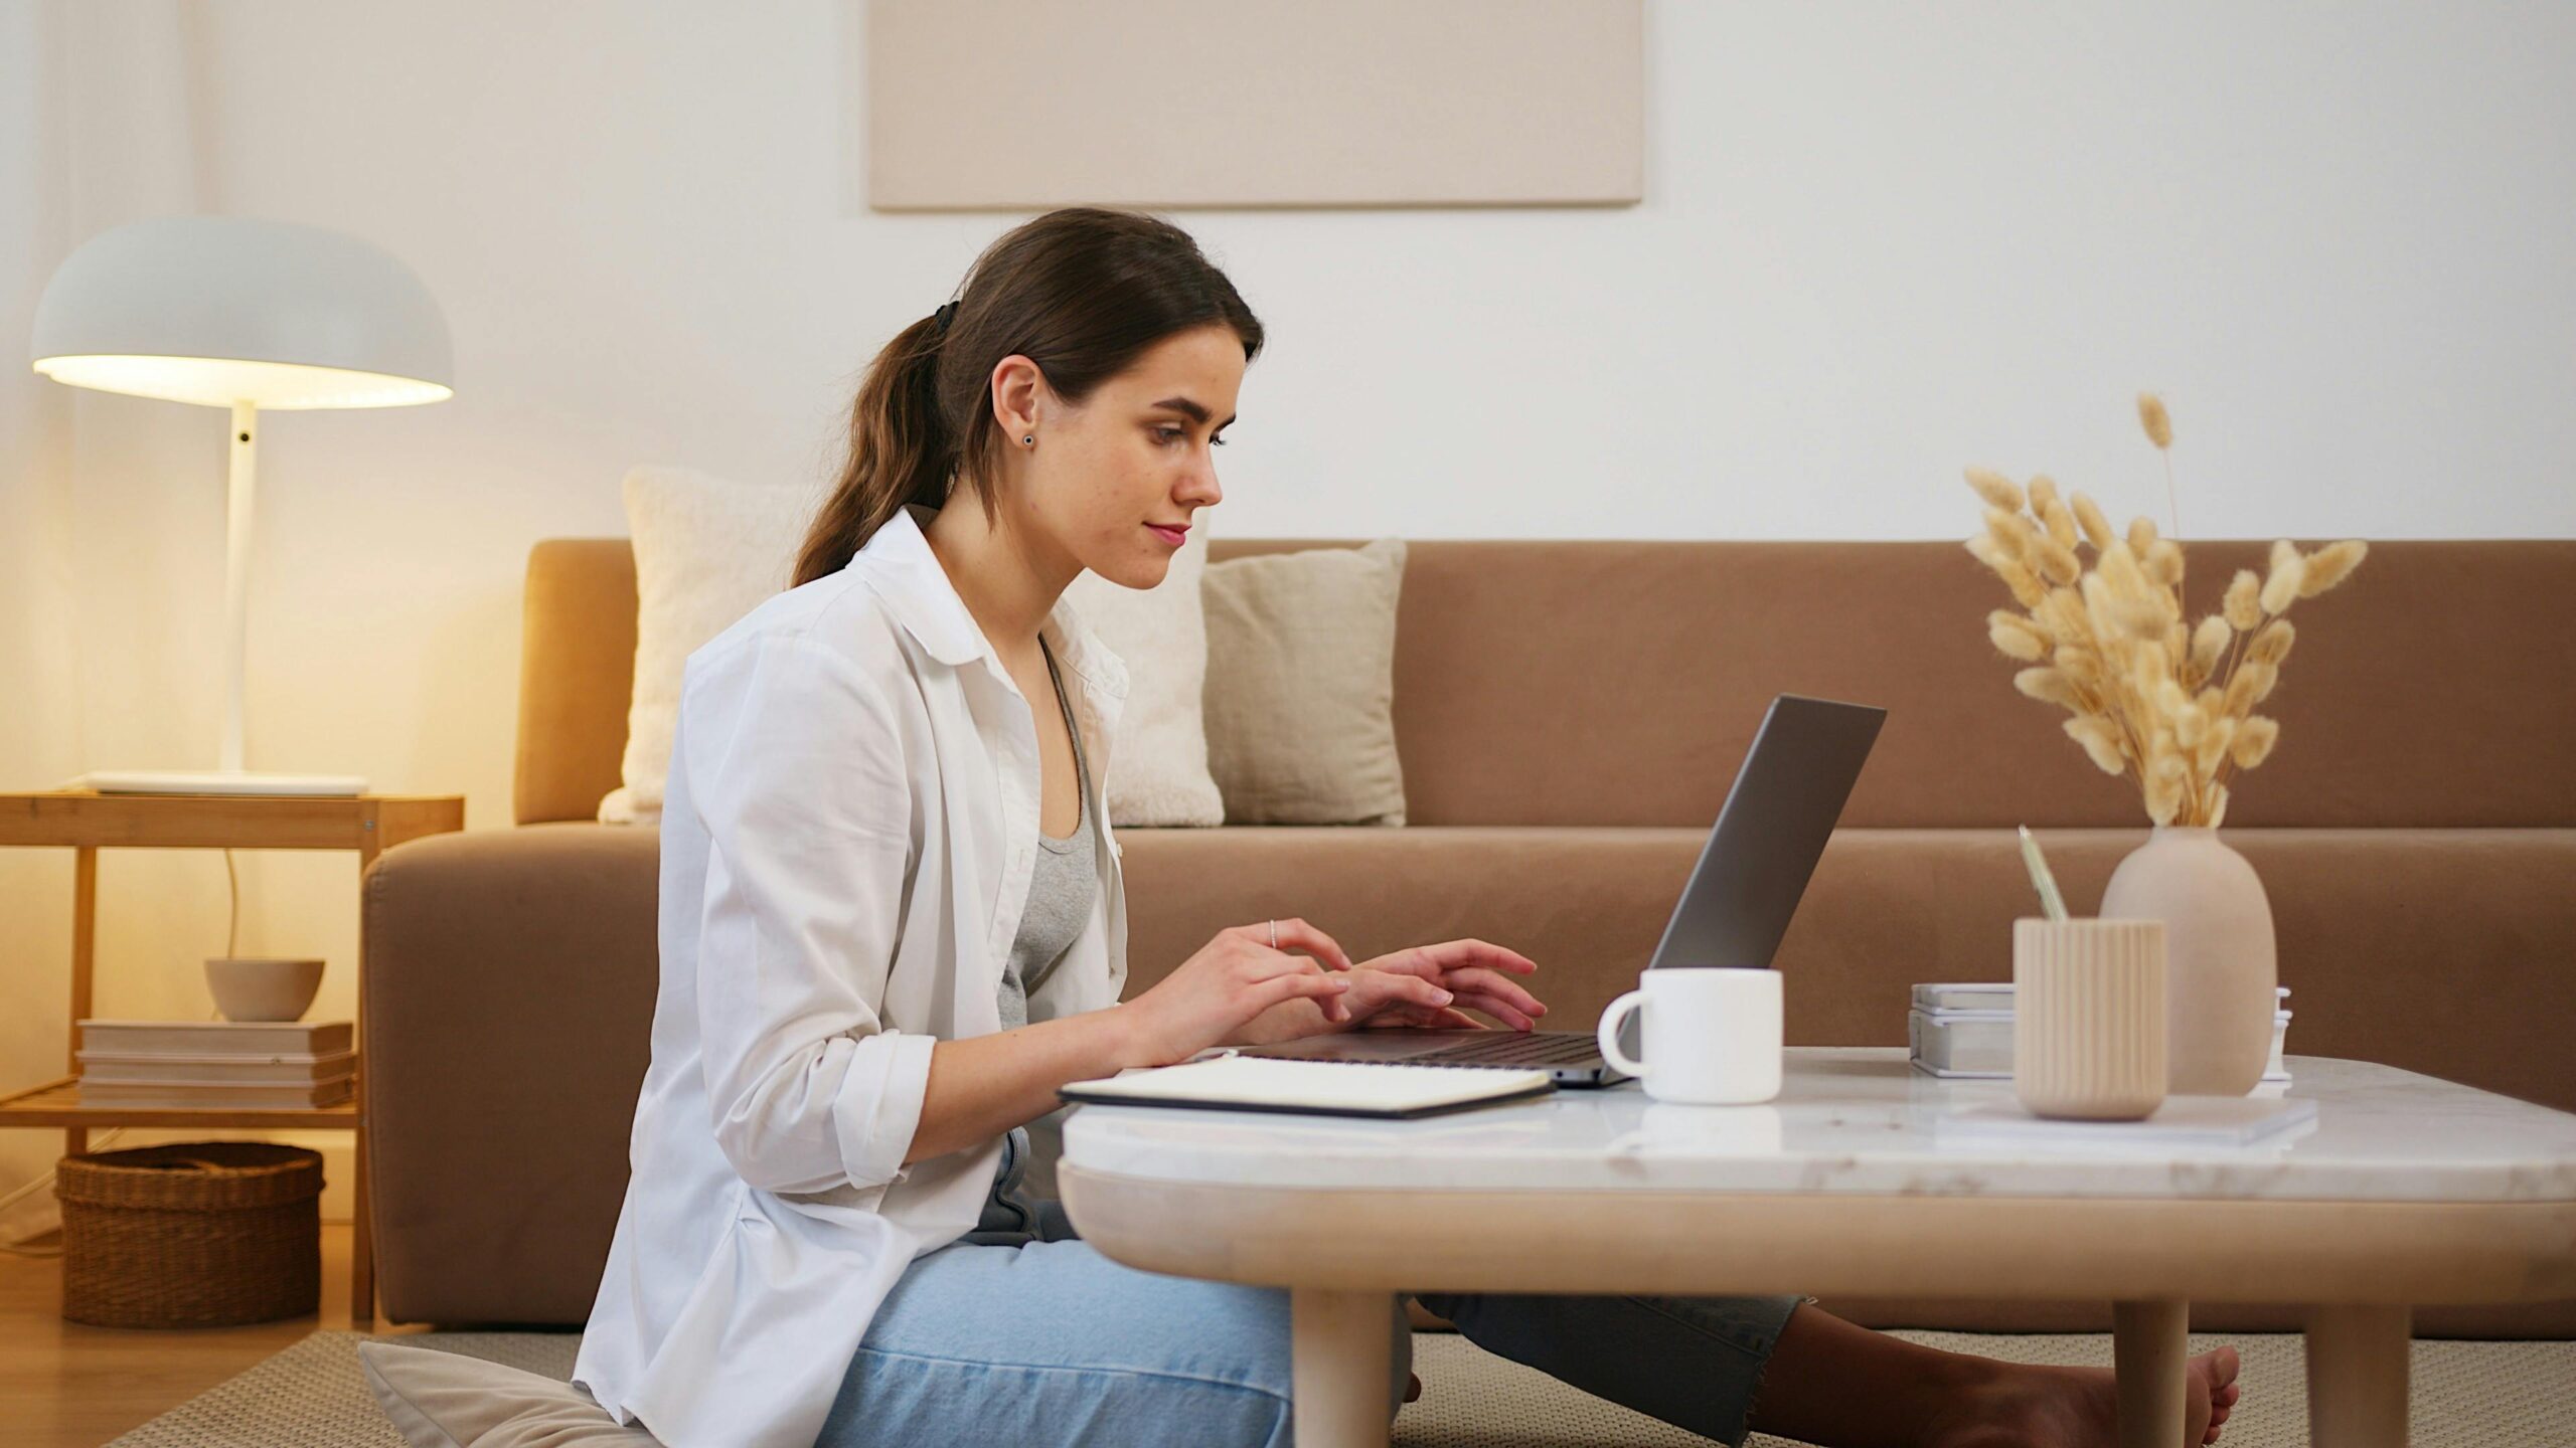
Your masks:
<svg viewBox="0 0 2576 1448"><path fill-rule="evenodd" d="M1123 1268L1056 1201L1018 1190L1012 1131L976 1232L878 1306L817 1448L1293 1443L1288 1293ZM1479 1348L1677 1427L1741 1443L1754 1389L1808 1299L1412 1293ZM1412 1371L1394 1299L1388 1422Z"/></svg>

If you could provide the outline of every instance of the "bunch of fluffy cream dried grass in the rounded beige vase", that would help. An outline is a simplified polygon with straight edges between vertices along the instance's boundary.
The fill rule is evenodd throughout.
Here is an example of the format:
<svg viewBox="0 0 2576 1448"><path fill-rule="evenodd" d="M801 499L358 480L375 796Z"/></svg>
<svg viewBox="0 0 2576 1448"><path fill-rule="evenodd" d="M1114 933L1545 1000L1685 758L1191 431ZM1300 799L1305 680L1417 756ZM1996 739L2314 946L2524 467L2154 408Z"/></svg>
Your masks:
<svg viewBox="0 0 2576 1448"><path fill-rule="evenodd" d="M2138 423L2164 453L2172 502L2174 417L2141 392ZM2012 685L2066 709L2066 737L2102 773L2133 781L2156 824L2226 819L2228 773L2262 765L2280 742L2280 724L2254 706L2280 685L2298 642L2285 613L2352 577L2370 546L2354 538L2303 554L2272 544L2262 572L2239 569L2218 611L2190 624L2179 523L2159 533L2138 518L2112 531L2092 497L2061 495L2048 477L2020 487L1968 469L1968 487L1986 505L1968 551L2027 611L1986 616L1996 652L2027 665Z"/></svg>

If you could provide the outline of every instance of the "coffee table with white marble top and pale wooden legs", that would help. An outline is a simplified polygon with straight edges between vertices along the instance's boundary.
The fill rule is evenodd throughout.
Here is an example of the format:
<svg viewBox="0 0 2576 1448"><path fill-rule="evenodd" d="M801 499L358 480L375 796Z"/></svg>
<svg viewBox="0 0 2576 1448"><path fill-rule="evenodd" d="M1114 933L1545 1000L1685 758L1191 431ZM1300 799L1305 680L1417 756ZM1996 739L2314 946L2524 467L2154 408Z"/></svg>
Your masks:
<svg viewBox="0 0 2576 1448"><path fill-rule="evenodd" d="M1386 1443L1391 1293L1432 1288L2107 1299L2120 1438L2156 1448L2182 1440L2192 1299L2303 1304L2316 1443L2403 1443L2414 1304L2576 1296L2576 1116L2287 1067L2259 1092L2313 1098L2311 1123L2197 1149L1965 1139L1942 1121L2012 1082L1901 1046L1793 1046L1767 1105L1636 1082L1425 1121L1084 1105L1056 1185L1118 1262L1291 1291L1306 1448Z"/></svg>

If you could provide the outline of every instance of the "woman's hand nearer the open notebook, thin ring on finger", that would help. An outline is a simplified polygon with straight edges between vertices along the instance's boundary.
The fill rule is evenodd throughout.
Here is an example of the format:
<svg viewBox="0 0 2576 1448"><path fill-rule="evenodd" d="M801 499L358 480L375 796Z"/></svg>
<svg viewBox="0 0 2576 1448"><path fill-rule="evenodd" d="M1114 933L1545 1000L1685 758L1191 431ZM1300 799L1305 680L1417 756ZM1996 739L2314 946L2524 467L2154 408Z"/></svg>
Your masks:
<svg viewBox="0 0 2576 1448"><path fill-rule="evenodd" d="M1278 928L1275 951L1273 928ZM1291 946L1316 958L1291 956ZM1118 1010L1136 1033L1139 1064L1167 1067L1236 1041L1255 1015L1285 1002L1311 1000L1324 1020L1350 1020L1340 1005L1352 982L1347 971L1350 956L1342 946L1303 920L1234 925Z"/></svg>

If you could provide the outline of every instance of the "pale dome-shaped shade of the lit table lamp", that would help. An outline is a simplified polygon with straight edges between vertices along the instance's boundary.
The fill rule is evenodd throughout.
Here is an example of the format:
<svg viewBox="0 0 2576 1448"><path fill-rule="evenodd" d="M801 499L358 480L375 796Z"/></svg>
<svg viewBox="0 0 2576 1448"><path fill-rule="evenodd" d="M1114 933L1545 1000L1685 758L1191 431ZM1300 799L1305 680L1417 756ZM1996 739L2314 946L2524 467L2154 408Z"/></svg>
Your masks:
<svg viewBox="0 0 2576 1448"><path fill-rule="evenodd" d="M162 216L82 242L36 301L36 371L263 410L453 394L448 322L384 250L291 222Z"/></svg>

